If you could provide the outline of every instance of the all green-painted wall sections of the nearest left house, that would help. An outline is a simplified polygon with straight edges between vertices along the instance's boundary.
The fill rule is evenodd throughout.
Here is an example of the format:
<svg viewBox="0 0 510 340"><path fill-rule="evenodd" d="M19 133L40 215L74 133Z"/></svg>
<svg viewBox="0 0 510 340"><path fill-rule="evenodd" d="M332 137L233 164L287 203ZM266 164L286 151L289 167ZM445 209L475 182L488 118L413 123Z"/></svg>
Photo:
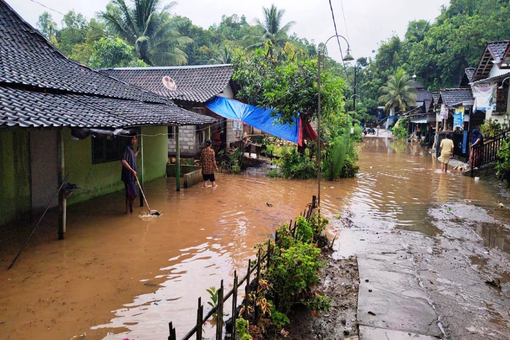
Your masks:
<svg viewBox="0 0 510 340"><path fill-rule="evenodd" d="M164 177L168 160L166 126L142 127L143 181ZM120 161L92 164L90 137L73 140L71 130L62 130L64 138L64 176L82 190L69 196L68 204L123 190ZM154 136L159 135L159 136ZM32 210L30 140L26 129L0 128L0 226L19 214ZM142 172L141 154L137 157ZM140 178L140 176L139 176ZM53 190L53 189L52 189Z"/></svg>

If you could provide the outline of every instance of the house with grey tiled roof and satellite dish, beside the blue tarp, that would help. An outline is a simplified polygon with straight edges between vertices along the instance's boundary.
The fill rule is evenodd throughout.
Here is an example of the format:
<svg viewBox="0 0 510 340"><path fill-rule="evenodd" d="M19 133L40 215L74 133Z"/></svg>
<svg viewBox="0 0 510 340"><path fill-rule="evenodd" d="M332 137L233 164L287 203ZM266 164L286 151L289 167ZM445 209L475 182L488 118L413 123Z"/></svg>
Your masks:
<svg viewBox="0 0 510 340"><path fill-rule="evenodd" d="M231 64L171 66L171 67L120 67L105 69L104 72L117 79L144 88L156 94L166 96L187 110L214 117L218 123L212 127L213 132L219 128L222 146L242 138L242 124L234 123L210 111L205 103L215 96L233 98L236 87L232 81L234 68ZM175 85L169 90L163 84L163 78L171 79ZM181 128L181 154L194 156L205 146L210 137L207 126L188 125ZM169 154L175 150L175 137L172 129L168 132Z"/></svg>

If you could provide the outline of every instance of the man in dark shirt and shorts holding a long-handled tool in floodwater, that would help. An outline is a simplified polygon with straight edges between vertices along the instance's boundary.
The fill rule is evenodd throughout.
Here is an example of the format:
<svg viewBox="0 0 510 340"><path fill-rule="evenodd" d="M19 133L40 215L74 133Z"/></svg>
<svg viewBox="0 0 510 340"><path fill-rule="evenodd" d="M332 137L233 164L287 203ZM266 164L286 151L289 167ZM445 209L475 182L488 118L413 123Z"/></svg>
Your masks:
<svg viewBox="0 0 510 340"><path fill-rule="evenodd" d="M120 179L124 182L124 187L126 190L126 214L133 213L133 203L135 202L135 198L137 196L135 180L136 180L136 156L140 152L140 146L138 146L137 150L134 150L135 144L138 140L137 135L132 135L127 142L127 145L124 147L124 152L122 153L122 173L120 175Z"/></svg>

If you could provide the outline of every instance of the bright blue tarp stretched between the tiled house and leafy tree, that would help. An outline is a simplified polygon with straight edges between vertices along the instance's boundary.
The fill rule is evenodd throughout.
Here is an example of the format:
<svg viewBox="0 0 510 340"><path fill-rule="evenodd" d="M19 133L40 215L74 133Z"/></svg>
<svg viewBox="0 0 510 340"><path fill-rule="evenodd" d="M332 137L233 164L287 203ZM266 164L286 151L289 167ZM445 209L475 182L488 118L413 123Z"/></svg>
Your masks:
<svg viewBox="0 0 510 340"><path fill-rule="evenodd" d="M212 112L251 125L273 136L297 143L299 137L299 117L292 124L281 124L271 117L271 109L258 108L234 99L214 97L206 103Z"/></svg>

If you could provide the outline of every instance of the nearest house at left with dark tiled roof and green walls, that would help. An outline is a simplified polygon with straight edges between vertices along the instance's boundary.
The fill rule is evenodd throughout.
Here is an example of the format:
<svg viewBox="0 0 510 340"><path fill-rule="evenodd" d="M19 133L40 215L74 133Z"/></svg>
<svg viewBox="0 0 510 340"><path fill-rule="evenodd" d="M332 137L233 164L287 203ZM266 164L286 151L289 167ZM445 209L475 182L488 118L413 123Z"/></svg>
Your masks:
<svg viewBox="0 0 510 340"><path fill-rule="evenodd" d="M82 189L69 203L123 188L127 132L154 136L138 160L148 181L165 176L167 125L216 121L67 59L4 0L0 40L0 225L44 208L65 173Z"/></svg>

